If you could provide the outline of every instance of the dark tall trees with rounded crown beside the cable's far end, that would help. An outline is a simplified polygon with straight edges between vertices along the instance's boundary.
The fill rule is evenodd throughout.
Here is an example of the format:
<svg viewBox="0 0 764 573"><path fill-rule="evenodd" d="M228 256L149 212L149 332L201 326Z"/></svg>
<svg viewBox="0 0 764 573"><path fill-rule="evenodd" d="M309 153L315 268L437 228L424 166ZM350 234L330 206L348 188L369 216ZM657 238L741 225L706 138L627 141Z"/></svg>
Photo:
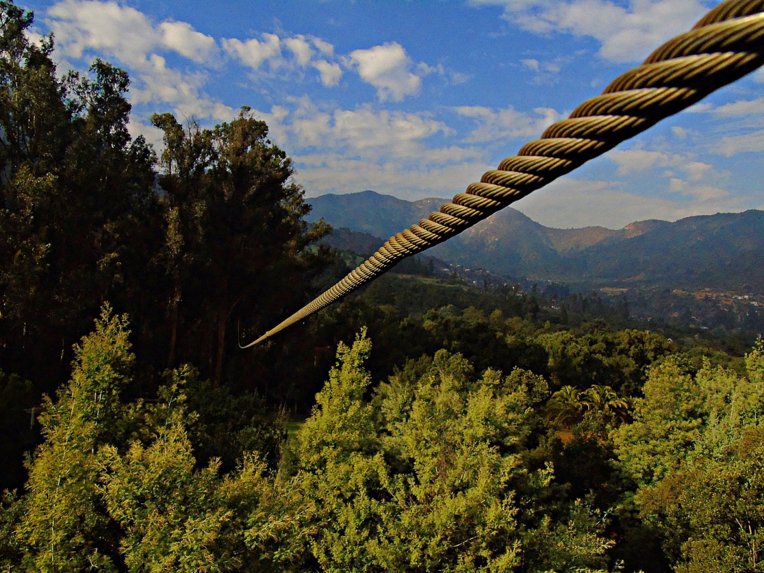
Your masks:
<svg viewBox="0 0 764 573"><path fill-rule="evenodd" d="M257 316L248 330L256 332L296 306L306 286L294 288L295 283L306 284L328 254L307 247L329 227L303 221L310 207L303 190L290 183L291 160L270 143L267 125L249 108L212 130L193 123L184 129L170 114L152 121L167 144L160 184L166 192L163 258L170 261L173 281L173 332L183 314L186 329L195 334L184 358L212 365L219 382L234 313L245 323ZM170 358L176 354L173 341ZM192 348L201 348L201 355Z"/></svg>

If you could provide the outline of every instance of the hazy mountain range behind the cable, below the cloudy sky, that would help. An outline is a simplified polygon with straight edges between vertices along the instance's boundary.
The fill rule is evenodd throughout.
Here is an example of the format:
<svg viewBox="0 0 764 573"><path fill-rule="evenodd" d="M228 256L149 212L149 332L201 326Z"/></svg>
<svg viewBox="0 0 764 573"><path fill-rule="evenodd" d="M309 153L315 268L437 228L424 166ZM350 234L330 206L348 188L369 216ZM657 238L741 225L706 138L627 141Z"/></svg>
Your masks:
<svg viewBox="0 0 764 573"><path fill-rule="evenodd" d="M309 219L325 219L335 246L367 249L448 202L406 201L374 191L308 199ZM427 254L509 277L587 286L672 286L764 293L764 212L699 215L666 222L633 222L621 229L549 228L507 207ZM376 247L372 248L374 238ZM348 247L349 248L349 247ZM364 253L367 254L367 253Z"/></svg>

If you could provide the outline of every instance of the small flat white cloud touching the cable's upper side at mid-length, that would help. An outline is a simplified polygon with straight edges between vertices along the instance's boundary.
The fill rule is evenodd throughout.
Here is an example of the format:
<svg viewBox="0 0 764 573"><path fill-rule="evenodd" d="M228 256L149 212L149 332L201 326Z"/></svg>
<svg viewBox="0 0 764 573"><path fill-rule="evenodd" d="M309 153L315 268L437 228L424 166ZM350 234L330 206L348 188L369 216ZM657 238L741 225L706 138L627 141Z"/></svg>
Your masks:
<svg viewBox="0 0 764 573"><path fill-rule="evenodd" d="M541 137L549 125L562 118L562 115L552 108L534 108L535 115L518 112L511 105L503 109L486 108L481 105L462 105L453 109L459 115L478 122L478 127L465 138L469 143Z"/></svg>

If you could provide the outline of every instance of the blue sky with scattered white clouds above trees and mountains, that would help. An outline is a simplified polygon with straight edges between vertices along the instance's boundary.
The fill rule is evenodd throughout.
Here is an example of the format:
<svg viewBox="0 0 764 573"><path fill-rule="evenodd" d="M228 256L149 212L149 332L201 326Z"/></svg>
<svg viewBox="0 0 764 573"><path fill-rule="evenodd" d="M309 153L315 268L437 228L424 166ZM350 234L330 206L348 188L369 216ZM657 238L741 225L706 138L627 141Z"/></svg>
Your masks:
<svg viewBox="0 0 764 573"><path fill-rule="evenodd" d="M538 138L706 0L63 0L18 2L59 70L130 73L131 131L248 105L306 196L451 197ZM761 209L764 73L727 86L514 206L545 225Z"/></svg>

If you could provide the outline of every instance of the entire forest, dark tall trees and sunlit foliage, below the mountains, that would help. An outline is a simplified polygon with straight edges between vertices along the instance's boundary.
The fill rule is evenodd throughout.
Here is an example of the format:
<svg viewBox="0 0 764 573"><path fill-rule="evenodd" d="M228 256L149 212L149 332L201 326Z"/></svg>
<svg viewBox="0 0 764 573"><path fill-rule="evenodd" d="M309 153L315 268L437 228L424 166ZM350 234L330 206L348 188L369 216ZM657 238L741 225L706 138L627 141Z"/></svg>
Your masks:
<svg viewBox="0 0 764 573"><path fill-rule="evenodd" d="M354 255L248 108L154 115L157 155L32 19L0 2L0 568L764 571L756 325L411 259L241 350Z"/></svg>

